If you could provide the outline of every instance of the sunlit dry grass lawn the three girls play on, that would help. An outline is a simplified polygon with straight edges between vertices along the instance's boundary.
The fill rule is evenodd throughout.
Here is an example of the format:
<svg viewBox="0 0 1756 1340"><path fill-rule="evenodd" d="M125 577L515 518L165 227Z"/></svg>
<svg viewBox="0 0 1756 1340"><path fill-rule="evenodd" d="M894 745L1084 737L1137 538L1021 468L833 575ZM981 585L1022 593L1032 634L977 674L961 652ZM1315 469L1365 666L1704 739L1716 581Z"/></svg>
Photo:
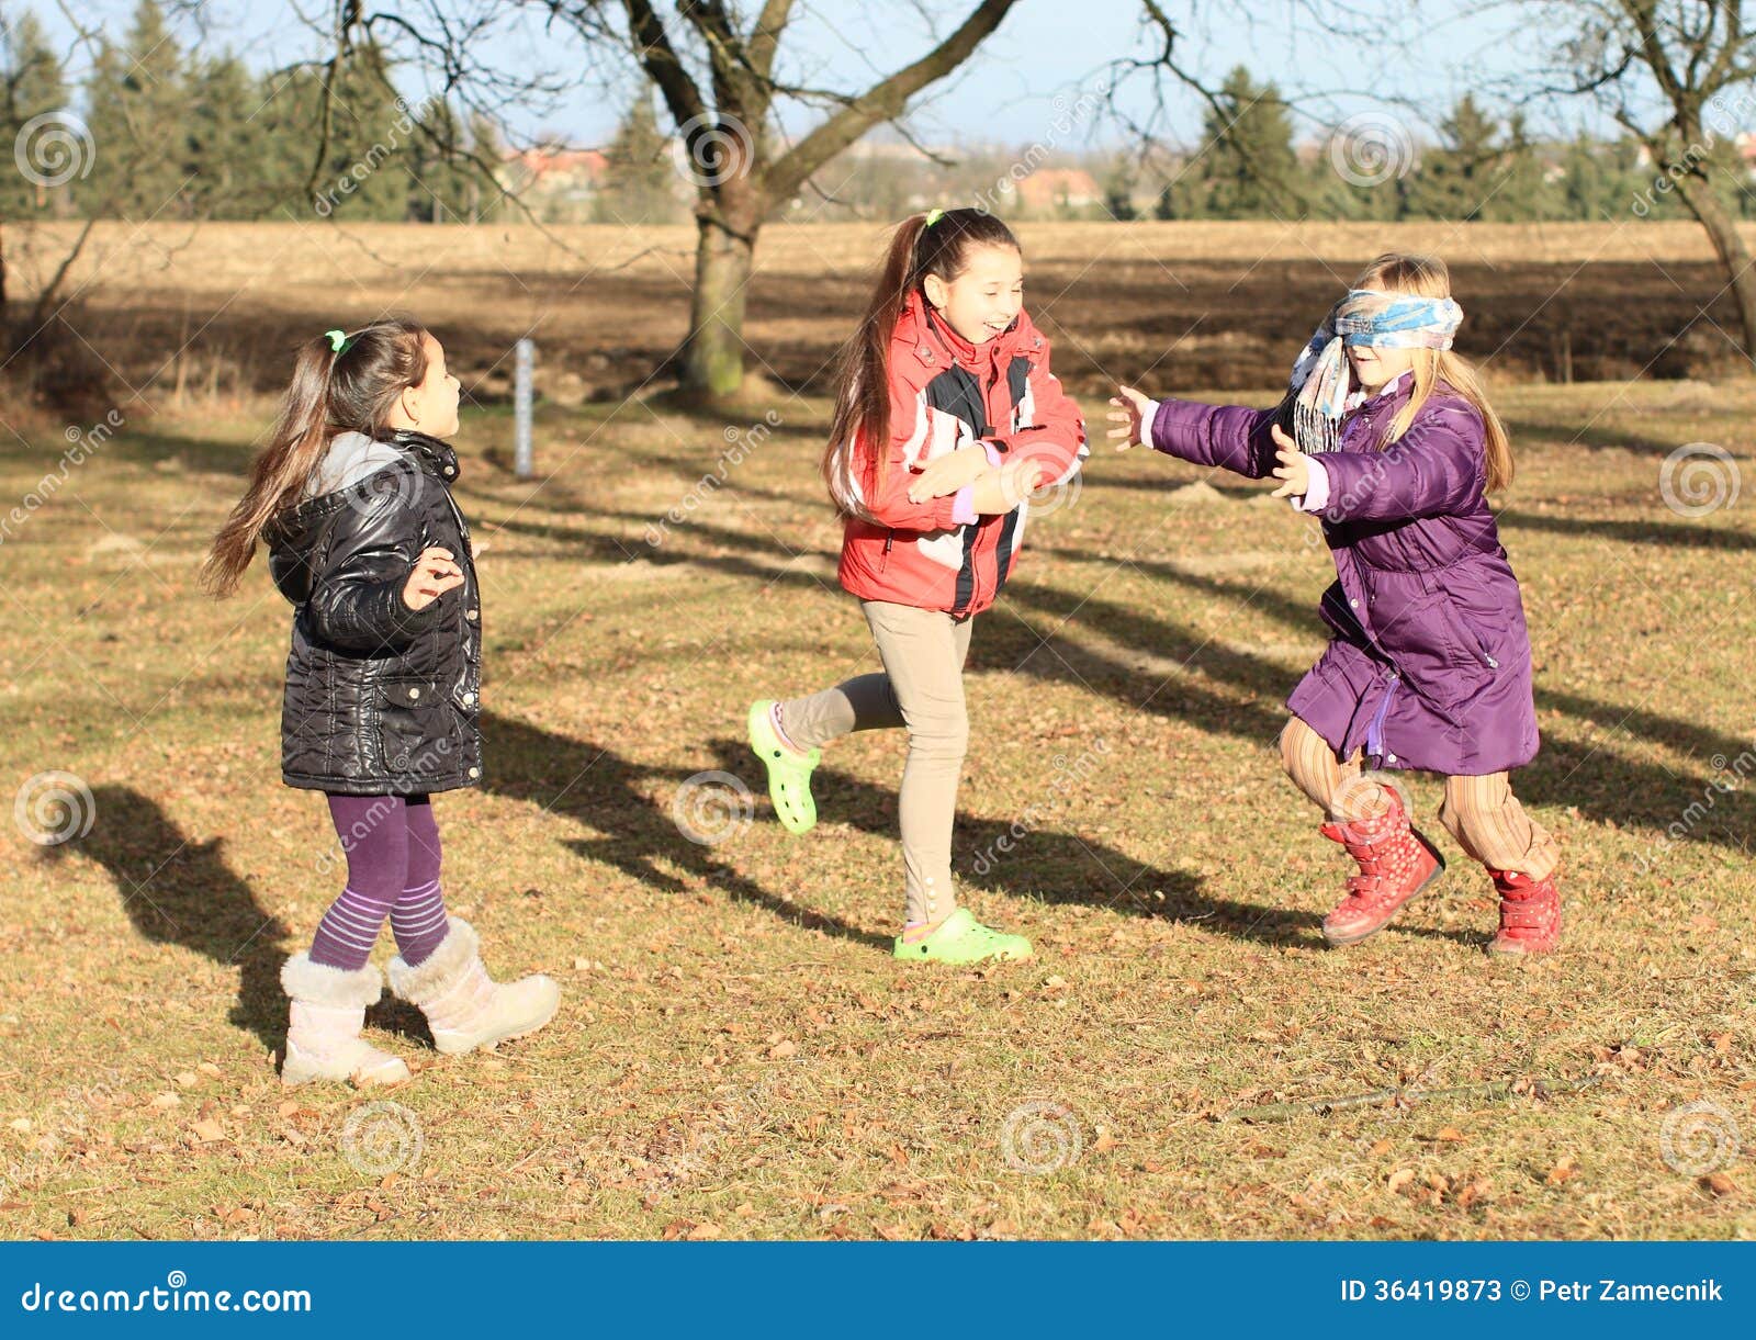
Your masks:
<svg viewBox="0 0 1756 1340"><path fill-rule="evenodd" d="M1751 1236L1756 478L1686 516L1659 474L1688 443L1749 474L1756 385L1501 407L1544 729L1515 785L1565 845L1565 952L1484 957L1491 889L1431 778L1450 871L1322 947L1345 861L1275 736L1328 555L1261 486L1099 443L975 629L955 866L1038 947L983 971L889 957L901 734L827 752L806 838L743 746L750 699L876 667L825 406L550 409L541 486L509 418L467 416L488 757L437 801L446 894L490 968L565 999L444 1059L386 999L372 1036L416 1070L388 1092L272 1064L279 964L341 878L321 799L279 782L288 608L265 571L195 587L263 414L128 421L0 543L0 776L91 797L60 847L5 825L0 1233ZM68 441L28 436L7 506ZM722 841L681 836L680 796ZM1238 1117L1384 1089L1445 1092Z"/></svg>

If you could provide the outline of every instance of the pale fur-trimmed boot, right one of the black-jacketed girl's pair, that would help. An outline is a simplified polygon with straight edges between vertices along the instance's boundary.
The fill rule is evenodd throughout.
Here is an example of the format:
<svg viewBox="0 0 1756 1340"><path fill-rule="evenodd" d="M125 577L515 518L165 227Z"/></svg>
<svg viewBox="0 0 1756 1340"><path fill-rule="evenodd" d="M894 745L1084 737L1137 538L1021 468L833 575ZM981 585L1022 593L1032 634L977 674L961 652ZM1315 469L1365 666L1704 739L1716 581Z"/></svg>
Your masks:
<svg viewBox="0 0 1756 1340"><path fill-rule="evenodd" d="M390 989L420 1006L441 1052L472 1052L506 1038L536 1033L555 1017L560 987L534 975L499 985L481 962L476 927L451 917L446 938L428 957L409 968L399 954L390 961Z"/></svg>

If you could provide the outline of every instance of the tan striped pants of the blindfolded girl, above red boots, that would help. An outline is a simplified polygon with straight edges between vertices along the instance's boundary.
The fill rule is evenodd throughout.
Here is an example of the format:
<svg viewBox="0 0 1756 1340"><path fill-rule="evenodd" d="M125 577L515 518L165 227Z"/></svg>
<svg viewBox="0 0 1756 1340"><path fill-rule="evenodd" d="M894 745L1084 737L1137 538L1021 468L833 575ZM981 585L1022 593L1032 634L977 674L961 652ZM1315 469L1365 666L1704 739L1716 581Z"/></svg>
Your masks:
<svg viewBox="0 0 1756 1340"><path fill-rule="evenodd" d="M1292 717L1280 732L1280 760L1294 785L1333 822L1371 818L1389 808L1384 787L1361 771L1359 752L1340 760L1321 734ZM1507 773L1447 776L1438 822L1457 845L1489 869L1544 880L1559 864L1554 839L1512 794Z"/></svg>

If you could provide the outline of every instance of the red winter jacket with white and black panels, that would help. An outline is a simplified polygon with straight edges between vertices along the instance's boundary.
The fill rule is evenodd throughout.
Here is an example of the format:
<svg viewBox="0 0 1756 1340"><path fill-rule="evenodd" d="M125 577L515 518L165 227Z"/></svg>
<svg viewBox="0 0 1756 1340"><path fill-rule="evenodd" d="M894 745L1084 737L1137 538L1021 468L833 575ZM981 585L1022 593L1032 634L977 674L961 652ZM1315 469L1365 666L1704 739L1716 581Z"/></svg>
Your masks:
<svg viewBox="0 0 1756 1340"><path fill-rule="evenodd" d="M1001 460L1043 464L1043 483L1078 474L1085 421L1048 371L1048 341L1018 313L1004 332L969 344L922 295L910 297L890 337L890 441L883 492L873 497L871 444L855 457L871 525L850 516L841 536L841 585L862 601L945 609L954 618L994 604L1018 560L1029 502L969 525L954 499L910 502L927 462L982 439Z"/></svg>

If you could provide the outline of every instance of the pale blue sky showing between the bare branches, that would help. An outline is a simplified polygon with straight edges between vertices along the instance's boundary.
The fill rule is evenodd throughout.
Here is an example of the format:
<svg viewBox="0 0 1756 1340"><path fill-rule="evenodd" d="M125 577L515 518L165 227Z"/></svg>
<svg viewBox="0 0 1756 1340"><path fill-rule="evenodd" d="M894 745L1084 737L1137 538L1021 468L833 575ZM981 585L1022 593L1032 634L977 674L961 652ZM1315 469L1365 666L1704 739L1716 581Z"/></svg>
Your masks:
<svg viewBox="0 0 1756 1340"><path fill-rule="evenodd" d="M0 12L35 9L56 42L74 51L77 72L86 56L76 28L60 9L61 2L0 0ZM133 0L67 2L77 4L83 25L118 37L133 11ZM802 18L783 44L783 74L799 83L836 88L869 84L932 46L934 30L924 14L936 19L943 35L969 2L801 4ZM488 0L441 4L479 9ZM1457 97L1472 88L1479 93L1491 90L1496 77L1515 74L1544 40L1528 5L1487 5L1468 16L1459 16L1459 5L1426 0L1345 0L1345 5L1326 7L1319 0L1168 0L1166 9L1189 25L1189 37L1178 47L1180 60L1203 83L1219 84L1226 70L1243 63L1259 81L1271 79L1294 95L1294 133L1301 140L1326 139L1340 119L1382 109L1385 104L1378 95L1403 98L1394 114L1417 139L1433 139L1436 119ZM397 4L383 0L381 7L395 9ZM1322 30L1313 21L1313 9L1352 16L1345 21L1354 32ZM300 14L321 16L327 11L323 0L211 0L205 33L184 28L181 35L204 51L218 54L230 47L253 68L274 68L321 49L318 33L300 21ZM1361 37L1361 32L1370 35ZM541 105L509 109L507 123L515 135L536 139L555 132L572 144L602 144L636 90L625 74L606 88L604 77L585 70L574 40L548 37L530 21L507 25L476 49L506 68L543 68L569 84ZM1082 102L1082 95L1103 88L1113 60L1148 56L1155 49L1155 35L1141 26L1138 0L1024 0L955 77L934 86L917 104L908 125L917 139L931 144L1013 146L1045 139L1066 149L1120 144L1126 137L1120 125L1101 112L1087 114L1096 104L1090 97ZM1126 83L1119 104L1136 119L1152 116L1148 81L1134 77ZM1164 112L1155 121L1161 139L1185 146L1199 142L1203 104L1192 91L1166 88ZM817 119L818 112L804 107L781 111L788 133L801 133ZM1601 128L1601 119L1580 107L1559 114L1536 109L1533 125L1549 133L1572 135L1580 125Z"/></svg>

